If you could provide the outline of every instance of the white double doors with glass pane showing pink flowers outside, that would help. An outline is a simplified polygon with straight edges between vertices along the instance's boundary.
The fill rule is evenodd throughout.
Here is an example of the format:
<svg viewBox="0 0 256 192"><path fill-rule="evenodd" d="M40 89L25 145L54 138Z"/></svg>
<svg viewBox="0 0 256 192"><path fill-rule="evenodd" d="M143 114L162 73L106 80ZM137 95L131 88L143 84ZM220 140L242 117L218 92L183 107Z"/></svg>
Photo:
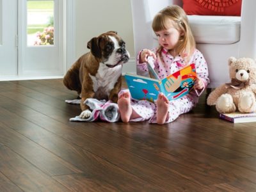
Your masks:
<svg viewBox="0 0 256 192"><path fill-rule="evenodd" d="M0 80L63 76L65 3L0 0Z"/></svg>

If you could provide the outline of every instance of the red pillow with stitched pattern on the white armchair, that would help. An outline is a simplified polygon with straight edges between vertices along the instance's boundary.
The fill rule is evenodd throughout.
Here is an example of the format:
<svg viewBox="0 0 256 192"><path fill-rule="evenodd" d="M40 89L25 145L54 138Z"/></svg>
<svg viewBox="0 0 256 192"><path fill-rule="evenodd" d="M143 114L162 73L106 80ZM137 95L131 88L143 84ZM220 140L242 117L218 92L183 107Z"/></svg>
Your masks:
<svg viewBox="0 0 256 192"><path fill-rule="evenodd" d="M183 0L183 9L187 15L241 16L241 4L242 0Z"/></svg>

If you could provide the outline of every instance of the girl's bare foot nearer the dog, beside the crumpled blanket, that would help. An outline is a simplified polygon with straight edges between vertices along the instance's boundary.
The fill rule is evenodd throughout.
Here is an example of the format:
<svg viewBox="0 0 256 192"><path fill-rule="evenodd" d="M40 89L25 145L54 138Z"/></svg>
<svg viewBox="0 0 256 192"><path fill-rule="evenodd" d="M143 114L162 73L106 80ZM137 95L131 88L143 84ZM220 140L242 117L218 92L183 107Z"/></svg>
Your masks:
<svg viewBox="0 0 256 192"><path fill-rule="evenodd" d="M132 115L131 94L129 92L122 93L118 98L117 104L122 122L129 122Z"/></svg>

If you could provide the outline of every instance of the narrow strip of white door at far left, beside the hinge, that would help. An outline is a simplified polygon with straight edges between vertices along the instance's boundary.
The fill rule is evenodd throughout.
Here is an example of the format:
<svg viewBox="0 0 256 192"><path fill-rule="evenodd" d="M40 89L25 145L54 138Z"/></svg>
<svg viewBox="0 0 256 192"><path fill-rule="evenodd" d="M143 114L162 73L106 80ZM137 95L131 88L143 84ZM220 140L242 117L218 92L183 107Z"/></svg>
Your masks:
<svg viewBox="0 0 256 192"><path fill-rule="evenodd" d="M0 76L17 76L17 2L0 0Z"/></svg>

